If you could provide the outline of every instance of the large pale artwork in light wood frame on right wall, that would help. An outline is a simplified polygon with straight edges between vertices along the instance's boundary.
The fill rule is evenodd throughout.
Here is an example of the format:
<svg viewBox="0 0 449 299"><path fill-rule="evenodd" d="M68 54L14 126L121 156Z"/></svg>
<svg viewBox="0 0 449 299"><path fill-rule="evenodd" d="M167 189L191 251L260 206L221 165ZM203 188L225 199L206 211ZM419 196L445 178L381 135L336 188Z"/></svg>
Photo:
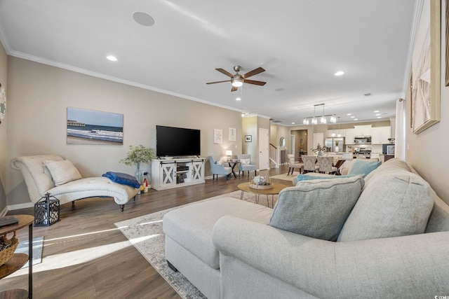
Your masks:
<svg viewBox="0 0 449 299"><path fill-rule="evenodd" d="M424 0L412 56L412 132L440 121L441 1Z"/></svg>

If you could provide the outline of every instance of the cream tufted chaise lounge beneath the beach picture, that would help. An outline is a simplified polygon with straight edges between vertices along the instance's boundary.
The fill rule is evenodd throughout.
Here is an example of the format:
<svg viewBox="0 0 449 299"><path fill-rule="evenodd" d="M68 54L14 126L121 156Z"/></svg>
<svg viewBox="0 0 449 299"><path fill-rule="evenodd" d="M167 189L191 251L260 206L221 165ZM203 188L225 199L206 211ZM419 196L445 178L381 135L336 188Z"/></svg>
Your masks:
<svg viewBox="0 0 449 299"><path fill-rule="evenodd" d="M139 192L137 188L114 183L103 176L82 179L76 169L74 172L77 172L79 179L60 184L61 181L58 182L58 179L53 178L46 166L48 161L67 160L59 155L30 155L11 161L11 167L22 172L27 184L29 199L33 203L40 200L47 192L58 198L60 204L73 203L74 200L87 197L114 197L114 201L120 205L120 210L123 211L126 202ZM69 164L72 163L69 162Z"/></svg>

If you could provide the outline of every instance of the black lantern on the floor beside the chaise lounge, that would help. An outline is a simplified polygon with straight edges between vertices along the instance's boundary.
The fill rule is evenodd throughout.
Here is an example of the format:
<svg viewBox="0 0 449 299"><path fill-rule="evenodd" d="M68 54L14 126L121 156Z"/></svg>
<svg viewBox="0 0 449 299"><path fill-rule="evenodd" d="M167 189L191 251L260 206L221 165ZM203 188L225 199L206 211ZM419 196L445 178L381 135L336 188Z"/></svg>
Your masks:
<svg viewBox="0 0 449 299"><path fill-rule="evenodd" d="M34 226L50 226L59 221L59 200L46 193L34 204Z"/></svg>

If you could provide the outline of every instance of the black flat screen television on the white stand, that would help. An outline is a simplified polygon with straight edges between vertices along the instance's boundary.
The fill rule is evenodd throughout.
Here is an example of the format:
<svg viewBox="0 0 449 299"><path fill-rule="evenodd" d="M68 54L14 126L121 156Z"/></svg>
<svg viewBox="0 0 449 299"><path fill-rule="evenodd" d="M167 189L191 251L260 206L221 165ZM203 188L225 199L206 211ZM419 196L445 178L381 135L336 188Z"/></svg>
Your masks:
<svg viewBox="0 0 449 299"><path fill-rule="evenodd" d="M156 125L156 155L182 157L201 155L200 130Z"/></svg>

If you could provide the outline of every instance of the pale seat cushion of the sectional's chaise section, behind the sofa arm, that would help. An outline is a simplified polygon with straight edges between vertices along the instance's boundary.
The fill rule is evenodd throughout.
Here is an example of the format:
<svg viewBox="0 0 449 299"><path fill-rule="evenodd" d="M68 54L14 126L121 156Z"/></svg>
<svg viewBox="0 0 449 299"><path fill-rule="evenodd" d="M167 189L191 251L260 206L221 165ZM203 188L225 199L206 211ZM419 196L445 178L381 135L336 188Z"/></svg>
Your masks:
<svg viewBox="0 0 449 299"><path fill-rule="evenodd" d="M163 216L163 232L213 269L220 268L212 243L213 225L225 215L266 224L272 209L232 197L189 204Z"/></svg>

